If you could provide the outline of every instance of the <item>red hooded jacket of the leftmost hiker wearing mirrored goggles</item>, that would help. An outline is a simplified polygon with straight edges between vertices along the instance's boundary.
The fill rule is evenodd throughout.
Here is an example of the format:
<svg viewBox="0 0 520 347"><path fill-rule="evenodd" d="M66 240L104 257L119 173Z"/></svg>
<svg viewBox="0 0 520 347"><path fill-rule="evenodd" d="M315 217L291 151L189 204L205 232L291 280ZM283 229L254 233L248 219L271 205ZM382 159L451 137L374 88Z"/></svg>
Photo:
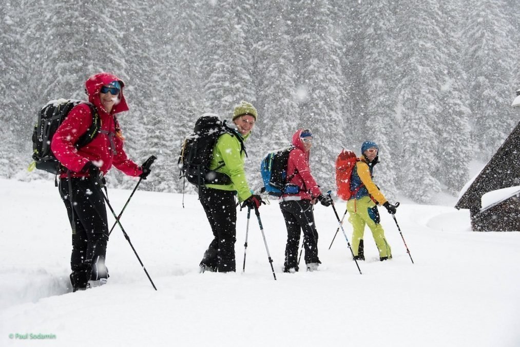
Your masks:
<svg viewBox="0 0 520 347"><path fill-rule="evenodd" d="M120 98L119 103L112 107L110 113L107 113L101 105L99 91L103 85L113 81L119 81L121 84ZM142 170L126 156L123 150L123 137L115 117L116 113L128 110L123 95L123 81L109 73L98 73L85 82L85 87L88 101L98 110L101 121L100 132L86 146L79 149L74 147L74 143L92 124L92 115L88 105L77 105L56 130L50 149L60 163L71 171L72 177L88 176L88 173L80 172L88 162L96 162L97 165L101 165L99 170L103 173L107 173L113 165L126 175L139 176ZM67 177L67 173L62 173L60 177Z"/></svg>

